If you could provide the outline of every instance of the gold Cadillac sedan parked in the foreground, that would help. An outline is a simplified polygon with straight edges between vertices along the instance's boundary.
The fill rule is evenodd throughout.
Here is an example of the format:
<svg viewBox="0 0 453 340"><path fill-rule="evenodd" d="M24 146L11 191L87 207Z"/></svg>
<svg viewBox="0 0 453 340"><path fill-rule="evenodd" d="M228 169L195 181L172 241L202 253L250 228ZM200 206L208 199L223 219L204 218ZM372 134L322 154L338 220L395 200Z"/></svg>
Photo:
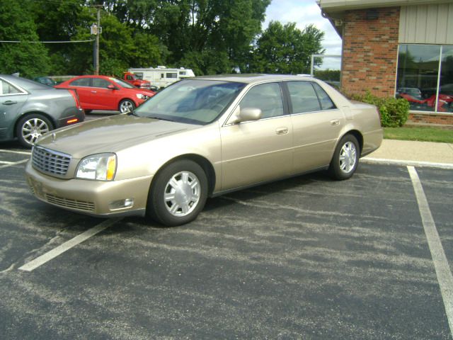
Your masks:
<svg viewBox="0 0 453 340"><path fill-rule="evenodd" d="M33 194L100 217L194 220L207 197L328 169L381 145L374 106L311 77L227 75L168 86L127 115L55 130L26 166Z"/></svg>

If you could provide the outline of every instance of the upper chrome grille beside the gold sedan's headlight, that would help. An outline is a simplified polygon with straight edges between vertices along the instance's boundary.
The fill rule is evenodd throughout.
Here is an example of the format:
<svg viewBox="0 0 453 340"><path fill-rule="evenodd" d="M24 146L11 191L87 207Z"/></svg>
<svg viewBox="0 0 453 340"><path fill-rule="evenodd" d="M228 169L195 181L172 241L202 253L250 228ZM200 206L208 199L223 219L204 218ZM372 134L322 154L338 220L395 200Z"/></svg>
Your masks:
<svg viewBox="0 0 453 340"><path fill-rule="evenodd" d="M57 176L66 175L71 162L69 154L62 154L44 147L33 147L31 157L35 169Z"/></svg>

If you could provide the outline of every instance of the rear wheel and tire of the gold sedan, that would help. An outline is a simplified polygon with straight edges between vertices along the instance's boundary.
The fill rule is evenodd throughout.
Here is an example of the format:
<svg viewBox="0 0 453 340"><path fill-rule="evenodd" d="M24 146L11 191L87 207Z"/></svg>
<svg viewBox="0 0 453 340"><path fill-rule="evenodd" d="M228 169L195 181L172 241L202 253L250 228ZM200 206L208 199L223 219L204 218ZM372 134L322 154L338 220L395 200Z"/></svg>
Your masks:
<svg viewBox="0 0 453 340"><path fill-rule="evenodd" d="M333 179L350 179L359 164L360 147L357 138L345 135L338 143L328 168Z"/></svg>

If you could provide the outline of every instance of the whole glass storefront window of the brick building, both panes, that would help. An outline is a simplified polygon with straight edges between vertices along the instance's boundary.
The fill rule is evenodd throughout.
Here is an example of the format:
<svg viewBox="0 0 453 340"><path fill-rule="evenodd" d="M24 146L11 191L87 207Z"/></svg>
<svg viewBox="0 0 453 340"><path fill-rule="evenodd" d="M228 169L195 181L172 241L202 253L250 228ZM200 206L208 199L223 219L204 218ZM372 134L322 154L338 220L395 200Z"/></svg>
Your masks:
<svg viewBox="0 0 453 340"><path fill-rule="evenodd" d="M396 97L413 111L453 112L453 46L400 45Z"/></svg>

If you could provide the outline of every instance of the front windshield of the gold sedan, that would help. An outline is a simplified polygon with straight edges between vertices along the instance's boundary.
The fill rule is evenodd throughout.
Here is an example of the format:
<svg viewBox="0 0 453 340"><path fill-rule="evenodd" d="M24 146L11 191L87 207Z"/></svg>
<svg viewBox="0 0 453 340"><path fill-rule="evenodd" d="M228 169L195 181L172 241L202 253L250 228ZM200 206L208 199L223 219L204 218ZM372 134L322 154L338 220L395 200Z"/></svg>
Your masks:
<svg viewBox="0 0 453 340"><path fill-rule="evenodd" d="M139 106L134 115L205 125L216 120L245 85L200 79L178 81Z"/></svg>

